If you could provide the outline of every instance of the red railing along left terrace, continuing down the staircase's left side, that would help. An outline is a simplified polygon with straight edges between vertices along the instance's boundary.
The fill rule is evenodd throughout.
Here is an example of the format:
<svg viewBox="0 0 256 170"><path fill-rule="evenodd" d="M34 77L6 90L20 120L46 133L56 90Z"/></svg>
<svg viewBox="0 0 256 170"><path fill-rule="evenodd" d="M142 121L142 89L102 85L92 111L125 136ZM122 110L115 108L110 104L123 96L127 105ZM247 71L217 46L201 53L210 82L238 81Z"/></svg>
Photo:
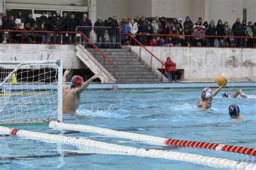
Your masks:
<svg viewBox="0 0 256 170"><path fill-rule="evenodd" d="M21 37L21 43L24 44L24 33L27 33L27 32L31 32L31 33L35 33L35 35L33 35L33 40L34 42L32 44L37 44L38 42L36 41L37 39L37 35L41 35L42 33L45 33L46 34L46 42L48 42L49 40L49 35L48 33L57 33L58 34L58 43L57 44L60 44L61 42L61 35L63 34L66 34L66 33L69 33L69 35L75 35L75 36L71 36L71 39L70 39L70 42L72 43L73 42L73 38L76 37L76 34L79 33L84 39L87 40L87 42L91 43L92 47L93 47L93 57L95 57L95 51L96 49L102 54L103 58L104 58L104 67L106 67L106 59L109 60L109 62L113 65L113 76L114 78L116 78L116 68L117 68L117 65L113 63L113 61L107 57L105 55L105 53L100 50L94 43L91 42L91 40L89 38L87 38L82 32L71 32L71 31L26 31L26 30L9 30L9 31L6 31L6 30L0 30L1 32L8 32L9 34L9 39L8 39L8 42L9 43L15 43L15 42L11 42L11 36L12 36L12 33L21 33L19 35L19 37ZM29 44L29 43L26 43L26 44Z"/></svg>

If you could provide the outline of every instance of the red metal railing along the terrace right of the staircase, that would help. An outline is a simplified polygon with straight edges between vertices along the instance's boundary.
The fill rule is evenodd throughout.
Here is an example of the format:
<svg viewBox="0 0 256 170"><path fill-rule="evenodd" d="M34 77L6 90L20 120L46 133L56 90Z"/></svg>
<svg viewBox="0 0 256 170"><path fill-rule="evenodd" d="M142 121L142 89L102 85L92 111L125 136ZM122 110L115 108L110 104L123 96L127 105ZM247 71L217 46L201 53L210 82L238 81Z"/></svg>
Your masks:
<svg viewBox="0 0 256 170"><path fill-rule="evenodd" d="M216 47L216 46L208 46L210 43L210 40L214 41L215 39L223 39L223 42L224 43L228 43L228 46L225 46L225 47L251 47L251 48L254 48L256 47L256 37L237 37L237 36L201 36L201 35L161 35L161 34L141 34L141 33L135 33L135 34L132 34L132 35L135 35L135 36L145 36L146 39L145 39L145 42L146 42L146 45L149 45L149 43L147 43L149 41L149 39L151 37L177 37L177 38L174 38L175 39L175 43L178 44L178 41L179 41L179 37L184 37L184 43L185 45L183 46L188 46L188 43L190 43L190 46L196 46L194 45L193 43L191 44L191 42L193 41L192 38L200 38L200 37L204 37L205 38L205 45L202 47ZM234 42L232 44L232 40L231 39L234 39ZM246 42L247 40L247 42ZM195 42L195 41L194 41ZM197 40L197 42L200 42L200 40ZM247 45L247 43L250 42L250 46ZM239 44L237 44L239 43ZM242 44L243 43L243 44ZM136 45L137 42L135 42L134 45ZM242 44L242 45L241 45ZM212 45L212 44L210 44ZM221 47L221 44L219 44Z"/></svg>

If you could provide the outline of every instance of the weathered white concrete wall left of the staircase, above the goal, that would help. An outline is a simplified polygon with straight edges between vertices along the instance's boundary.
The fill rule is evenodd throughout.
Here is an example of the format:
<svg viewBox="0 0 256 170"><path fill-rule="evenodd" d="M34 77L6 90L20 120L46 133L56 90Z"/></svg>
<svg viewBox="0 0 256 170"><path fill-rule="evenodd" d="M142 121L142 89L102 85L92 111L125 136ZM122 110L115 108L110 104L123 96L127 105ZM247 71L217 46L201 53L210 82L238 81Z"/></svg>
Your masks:
<svg viewBox="0 0 256 170"><path fill-rule="evenodd" d="M63 69L86 68L76 57L74 45L44 45L44 44L1 44L0 60L63 60Z"/></svg>

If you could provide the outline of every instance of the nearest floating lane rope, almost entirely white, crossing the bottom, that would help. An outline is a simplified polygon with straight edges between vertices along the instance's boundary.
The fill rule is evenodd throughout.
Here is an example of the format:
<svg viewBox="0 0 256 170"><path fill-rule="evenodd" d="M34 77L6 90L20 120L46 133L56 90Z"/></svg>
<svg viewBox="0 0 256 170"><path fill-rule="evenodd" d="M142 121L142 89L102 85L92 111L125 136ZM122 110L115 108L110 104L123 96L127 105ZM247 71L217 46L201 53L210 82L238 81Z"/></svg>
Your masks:
<svg viewBox="0 0 256 170"><path fill-rule="evenodd" d="M109 144L106 142L100 142L95 140L89 140L84 138L65 137L62 135L32 132L25 130L10 129L8 127L0 126L0 132L17 135L18 137L25 137L33 140L63 143L77 146L90 146L100 149L106 149L114 152L122 152L121 154L133 155L137 157L148 158L160 158L168 160L179 160L185 162L191 162L193 164L201 164L205 166L217 167L217 168L238 168L238 169L256 169L255 164L247 164L246 162L240 162L228 159L221 159L215 157L205 157L197 154L180 153L172 151L162 151L157 149L150 149L146 151L144 148L135 148L130 146L122 146L116 144Z"/></svg>

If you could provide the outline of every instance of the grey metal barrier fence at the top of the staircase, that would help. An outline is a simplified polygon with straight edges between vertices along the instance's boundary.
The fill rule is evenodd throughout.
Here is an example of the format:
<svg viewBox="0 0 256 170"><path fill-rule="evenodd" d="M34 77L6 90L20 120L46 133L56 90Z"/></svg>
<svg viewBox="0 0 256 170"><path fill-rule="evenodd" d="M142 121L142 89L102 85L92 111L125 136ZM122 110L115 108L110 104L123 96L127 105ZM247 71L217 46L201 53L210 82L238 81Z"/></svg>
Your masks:
<svg viewBox="0 0 256 170"><path fill-rule="evenodd" d="M118 48L120 46L120 28L112 28L110 26L77 26L76 43L86 44L90 47L90 42L83 38L79 32L90 39L92 43L100 48Z"/></svg>

